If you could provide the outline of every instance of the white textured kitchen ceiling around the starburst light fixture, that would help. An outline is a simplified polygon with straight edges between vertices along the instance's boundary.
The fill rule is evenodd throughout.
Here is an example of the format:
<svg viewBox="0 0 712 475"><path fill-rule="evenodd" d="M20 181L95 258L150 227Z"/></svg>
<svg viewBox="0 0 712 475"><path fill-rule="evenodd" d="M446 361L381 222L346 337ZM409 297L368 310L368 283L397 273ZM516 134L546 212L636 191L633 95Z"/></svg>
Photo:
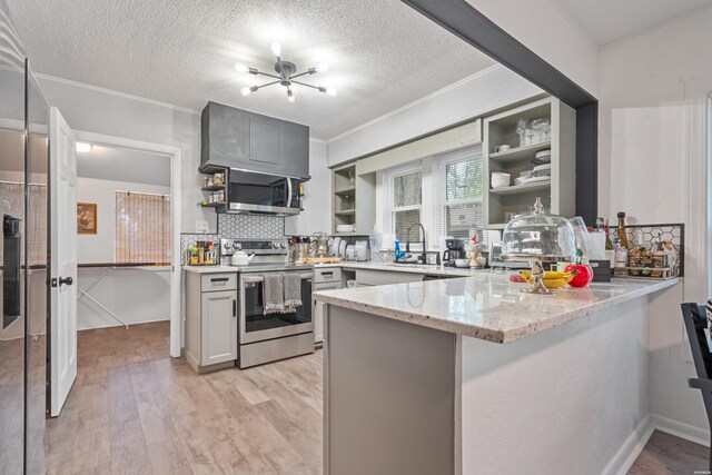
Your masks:
<svg viewBox="0 0 712 475"><path fill-rule="evenodd" d="M397 0L7 0L38 72L200 110L208 100L280 117L329 139L494 62ZM273 40L305 82L337 97L266 82ZM266 78L268 79L268 78Z"/></svg>

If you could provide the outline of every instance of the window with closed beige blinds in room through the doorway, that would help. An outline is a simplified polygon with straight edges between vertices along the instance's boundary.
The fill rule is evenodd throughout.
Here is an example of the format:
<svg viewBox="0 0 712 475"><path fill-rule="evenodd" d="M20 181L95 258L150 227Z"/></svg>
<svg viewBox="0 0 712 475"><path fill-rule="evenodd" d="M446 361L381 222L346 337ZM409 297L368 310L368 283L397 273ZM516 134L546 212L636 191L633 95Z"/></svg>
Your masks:
<svg viewBox="0 0 712 475"><path fill-rule="evenodd" d="M116 192L115 260L119 264L170 263L170 198Z"/></svg>

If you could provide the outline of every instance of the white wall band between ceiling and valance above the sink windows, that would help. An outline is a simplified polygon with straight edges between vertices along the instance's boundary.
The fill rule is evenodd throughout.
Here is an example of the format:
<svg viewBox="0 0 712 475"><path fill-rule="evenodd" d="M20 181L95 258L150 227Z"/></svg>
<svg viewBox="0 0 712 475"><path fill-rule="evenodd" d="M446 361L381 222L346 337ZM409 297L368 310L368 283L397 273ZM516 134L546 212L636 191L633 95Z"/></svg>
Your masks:
<svg viewBox="0 0 712 475"><path fill-rule="evenodd" d="M373 154L527 99L542 90L493 67L328 141L328 165Z"/></svg>

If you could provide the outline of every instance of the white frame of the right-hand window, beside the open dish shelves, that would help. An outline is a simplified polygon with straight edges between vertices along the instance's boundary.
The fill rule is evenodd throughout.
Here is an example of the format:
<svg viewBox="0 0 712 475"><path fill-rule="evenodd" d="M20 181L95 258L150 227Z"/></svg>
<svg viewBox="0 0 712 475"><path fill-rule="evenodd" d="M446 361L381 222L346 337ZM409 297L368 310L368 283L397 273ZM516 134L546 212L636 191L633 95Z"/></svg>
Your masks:
<svg viewBox="0 0 712 475"><path fill-rule="evenodd" d="M463 150L457 150L454 152L448 152L446 155L442 155L439 157L437 157L437 159L435 160L436 162L436 172L435 172L435 179L434 185L435 185L435 209L434 209L434 224L435 224L435 235L437 235L439 237L439 235L442 234L443 237L448 238L452 236L447 236L445 235L445 232L447 231L447 215L446 215L446 207L448 206L458 206L458 205L471 205L471 204L479 204L481 206L484 207L484 197L485 197L485 192L486 192L486 186L485 186L485 177L483 175L482 179L483 179L483 184L482 184L482 195L479 197L475 197L475 198L462 198L462 199L452 199L452 200L447 200L446 199L446 184L445 184L445 177L447 174L447 166L452 165L452 164L456 164L458 161L465 161L465 160L471 160L476 158L476 152L477 152L477 148L479 148L478 152L479 152L479 159L484 160L484 156L483 156L483 151L482 151L482 145L477 144L473 147L467 147L466 149ZM475 156L475 157L473 157ZM484 164L483 164L483 172L484 172ZM483 216L484 216L484 209L483 209ZM483 222L484 225L484 222Z"/></svg>

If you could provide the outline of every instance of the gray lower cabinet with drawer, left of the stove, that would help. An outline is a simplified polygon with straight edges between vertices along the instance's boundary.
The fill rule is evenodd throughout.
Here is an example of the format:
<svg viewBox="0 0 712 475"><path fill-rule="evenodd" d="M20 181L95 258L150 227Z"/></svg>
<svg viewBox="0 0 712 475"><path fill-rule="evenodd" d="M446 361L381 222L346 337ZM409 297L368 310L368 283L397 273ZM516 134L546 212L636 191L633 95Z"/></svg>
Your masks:
<svg viewBox="0 0 712 475"><path fill-rule="evenodd" d="M186 277L186 359L198 373L237 360L237 274Z"/></svg>

